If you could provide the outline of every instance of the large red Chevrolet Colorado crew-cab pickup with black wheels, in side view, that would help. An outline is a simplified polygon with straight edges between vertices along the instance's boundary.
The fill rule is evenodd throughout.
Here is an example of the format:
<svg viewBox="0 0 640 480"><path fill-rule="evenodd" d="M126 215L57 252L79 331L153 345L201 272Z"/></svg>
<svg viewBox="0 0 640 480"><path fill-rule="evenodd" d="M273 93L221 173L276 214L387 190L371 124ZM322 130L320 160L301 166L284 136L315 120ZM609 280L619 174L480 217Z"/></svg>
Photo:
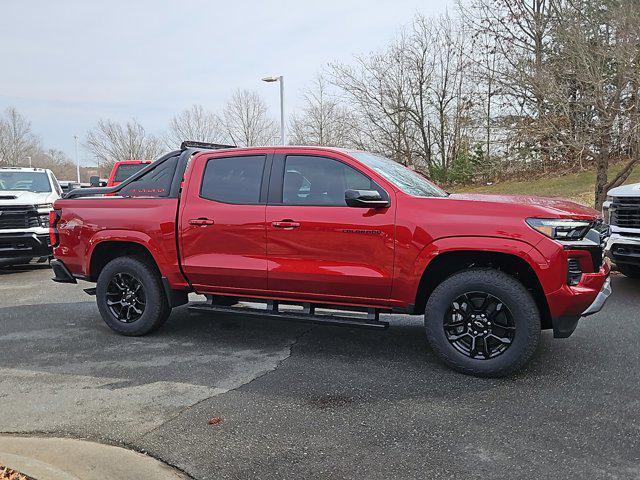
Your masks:
<svg viewBox="0 0 640 480"><path fill-rule="evenodd" d="M71 192L50 224L54 280L97 282L88 293L124 335L157 329L189 292L207 298L194 310L245 317L385 328L380 313L420 314L447 364L502 376L611 292L596 211L448 194L361 151L187 144Z"/></svg>

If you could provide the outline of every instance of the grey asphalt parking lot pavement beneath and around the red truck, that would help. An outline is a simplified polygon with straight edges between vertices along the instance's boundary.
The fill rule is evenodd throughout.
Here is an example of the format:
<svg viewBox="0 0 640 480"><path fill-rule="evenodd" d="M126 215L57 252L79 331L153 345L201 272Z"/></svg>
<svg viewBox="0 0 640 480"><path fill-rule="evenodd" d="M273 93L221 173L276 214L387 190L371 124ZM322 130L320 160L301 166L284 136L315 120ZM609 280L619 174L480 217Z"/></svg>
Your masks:
<svg viewBox="0 0 640 480"><path fill-rule="evenodd" d="M418 317L377 332L181 307L127 338L50 276L0 270L0 432L126 445L197 479L640 478L638 282L616 276L571 338L545 332L525 371L483 380L441 366Z"/></svg>

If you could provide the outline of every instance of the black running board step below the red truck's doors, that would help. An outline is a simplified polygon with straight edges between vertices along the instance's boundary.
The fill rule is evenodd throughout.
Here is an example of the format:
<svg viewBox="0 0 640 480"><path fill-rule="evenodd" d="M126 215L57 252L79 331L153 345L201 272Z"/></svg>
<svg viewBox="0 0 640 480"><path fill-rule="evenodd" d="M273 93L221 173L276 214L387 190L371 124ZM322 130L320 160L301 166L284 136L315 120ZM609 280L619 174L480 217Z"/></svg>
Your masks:
<svg viewBox="0 0 640 480"><path fill-rule="evenodd" d="M221 313L224 315L236 315L239 317L271 318L292 322L315 323L318 325L335 325L340 327L357 327L371 330L386 330L388 322L378 320L378 312L370 310L366 318L347 317L340 315L321 315L314 313L314 308L305 305L304 311L281 311L275 302L268 304L268 309L251 308L245 306L222 307L211 305L208 302L193 302L189 304L189 310L199 313ZM274 308L275 307L275 308ZM310 312L310 313L305 313Z"/></svg>

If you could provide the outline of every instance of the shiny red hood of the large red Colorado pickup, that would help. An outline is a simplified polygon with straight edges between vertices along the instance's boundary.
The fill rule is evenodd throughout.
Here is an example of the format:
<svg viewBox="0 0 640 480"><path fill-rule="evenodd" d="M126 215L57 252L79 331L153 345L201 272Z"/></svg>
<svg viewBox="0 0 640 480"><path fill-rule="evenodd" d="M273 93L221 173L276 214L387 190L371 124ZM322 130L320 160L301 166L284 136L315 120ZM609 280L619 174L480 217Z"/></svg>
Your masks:
<svg viewBox="0 0 640 480"><path fill-rule="evenodd" d="M467 200L473 202L485 202L503 204L505 206L529 207L531 216L540 218L577 218L594 220L600 214L593 208L585 207L570 200L562 198L534 197L529 195L485 195L485 194L451 194L452 200Z"/></svg>

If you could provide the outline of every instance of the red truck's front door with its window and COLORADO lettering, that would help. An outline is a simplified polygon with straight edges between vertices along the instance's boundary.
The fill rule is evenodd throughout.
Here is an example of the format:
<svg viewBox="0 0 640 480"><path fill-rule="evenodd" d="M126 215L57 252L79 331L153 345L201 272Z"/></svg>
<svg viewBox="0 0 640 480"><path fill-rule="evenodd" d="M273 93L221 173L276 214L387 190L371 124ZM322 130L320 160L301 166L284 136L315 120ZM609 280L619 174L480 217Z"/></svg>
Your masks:
<svg viewBox="0 0 640 480"><path fill-rule="evenodd" d="M271 182L266 212L269 290L326 302L387 301L395 206L354 208L345 203L347 189L381 187L327 156L276 155L274 178L281 180Z"/></svg>

